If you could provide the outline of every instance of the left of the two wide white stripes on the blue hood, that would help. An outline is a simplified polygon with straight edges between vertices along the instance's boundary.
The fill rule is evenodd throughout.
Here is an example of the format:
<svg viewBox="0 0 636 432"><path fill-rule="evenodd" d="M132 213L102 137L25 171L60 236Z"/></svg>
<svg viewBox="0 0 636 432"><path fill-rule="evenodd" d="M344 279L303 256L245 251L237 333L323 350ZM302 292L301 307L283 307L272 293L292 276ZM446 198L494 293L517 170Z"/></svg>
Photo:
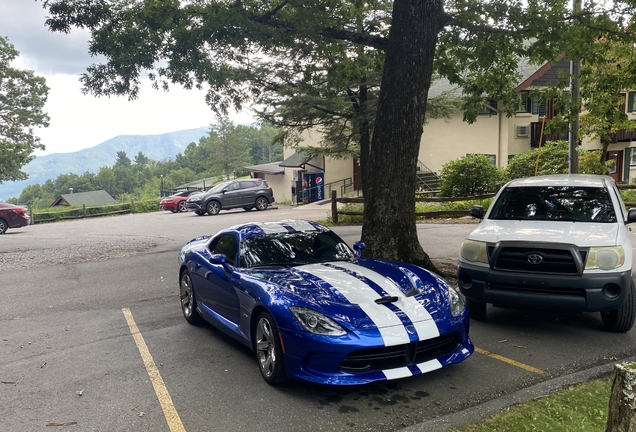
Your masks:
<svg viewBox="0 0 636 432"><path fill-rule="evenodd" d="M321 264L305 265L299 270L324 280L337 289L350 303L358 305L380 331L385 346L410 342L402 320L388 307L376 304L375 300L380 298L380 295L360 279L342 270Z"/></svg>

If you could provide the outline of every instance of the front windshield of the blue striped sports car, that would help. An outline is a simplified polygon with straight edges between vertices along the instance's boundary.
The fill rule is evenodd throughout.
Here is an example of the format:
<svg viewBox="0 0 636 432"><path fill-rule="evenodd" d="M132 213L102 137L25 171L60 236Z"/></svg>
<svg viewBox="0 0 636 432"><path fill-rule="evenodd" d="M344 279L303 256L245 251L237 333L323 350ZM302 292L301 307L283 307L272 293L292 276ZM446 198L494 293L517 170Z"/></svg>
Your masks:
<svg viewBox="0 0 636 432"><path fill-rule="evenodd" d="M331 231L276 233L245 239L241 243L240 266L296 266L349 261L354 257L349 246Z"/></svg>

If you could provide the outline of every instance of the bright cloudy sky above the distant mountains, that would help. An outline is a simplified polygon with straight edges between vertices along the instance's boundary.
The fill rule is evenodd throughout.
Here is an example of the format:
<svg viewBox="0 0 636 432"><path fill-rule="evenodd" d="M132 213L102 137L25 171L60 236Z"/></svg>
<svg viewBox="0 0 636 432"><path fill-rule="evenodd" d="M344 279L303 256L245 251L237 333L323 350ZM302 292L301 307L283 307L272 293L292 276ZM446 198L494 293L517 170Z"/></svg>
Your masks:
<svg viewBox="0 0 636 432"><path fill-rule="evenodd" d="M50 88L44 107L50 125L35 131L46 150L36 155L74 152L118 135L156 135L215 123L204 91L171 86L164 92L145 82L133 101L83 95L79 76L99 62L88 54L90 35L84 30L50 32L46 15L41 0L0 0L0 35L20 52L12 66L35 71ZM240 124L253 122L248 111L230 118Z"/></svg>

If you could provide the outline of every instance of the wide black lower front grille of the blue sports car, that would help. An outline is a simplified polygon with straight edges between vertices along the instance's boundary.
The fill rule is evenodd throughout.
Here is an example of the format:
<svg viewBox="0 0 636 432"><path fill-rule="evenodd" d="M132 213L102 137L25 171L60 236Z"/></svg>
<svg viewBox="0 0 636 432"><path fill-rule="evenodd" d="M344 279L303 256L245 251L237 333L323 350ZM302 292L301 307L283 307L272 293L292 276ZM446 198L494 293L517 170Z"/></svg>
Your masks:
<svg viewBox="0 0 636 432"><path fill-rule="evenodd" d="M449 333L404 345L358 350L344 358L340 363L340 370L367 373L419 364L453 353L461 341L458 333Z"/></svg>

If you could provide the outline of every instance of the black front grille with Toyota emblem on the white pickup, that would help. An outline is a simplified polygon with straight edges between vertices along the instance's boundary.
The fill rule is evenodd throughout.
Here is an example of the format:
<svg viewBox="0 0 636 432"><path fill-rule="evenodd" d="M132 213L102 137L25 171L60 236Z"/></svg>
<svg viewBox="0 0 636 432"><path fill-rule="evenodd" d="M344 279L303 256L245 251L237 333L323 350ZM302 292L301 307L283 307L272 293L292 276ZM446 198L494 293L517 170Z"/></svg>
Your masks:
<svg viewBox="0 0 636 432"><path fill-rule="evenodd" d="M569 249L508 246L501 247L498 251L495 251L494 247L489 249L491 256L494 255L494 268L496 270L533 273L577 274L580 270L572 254L579 253L583 263L587 255L586 251L573 252Z"/></svg>

